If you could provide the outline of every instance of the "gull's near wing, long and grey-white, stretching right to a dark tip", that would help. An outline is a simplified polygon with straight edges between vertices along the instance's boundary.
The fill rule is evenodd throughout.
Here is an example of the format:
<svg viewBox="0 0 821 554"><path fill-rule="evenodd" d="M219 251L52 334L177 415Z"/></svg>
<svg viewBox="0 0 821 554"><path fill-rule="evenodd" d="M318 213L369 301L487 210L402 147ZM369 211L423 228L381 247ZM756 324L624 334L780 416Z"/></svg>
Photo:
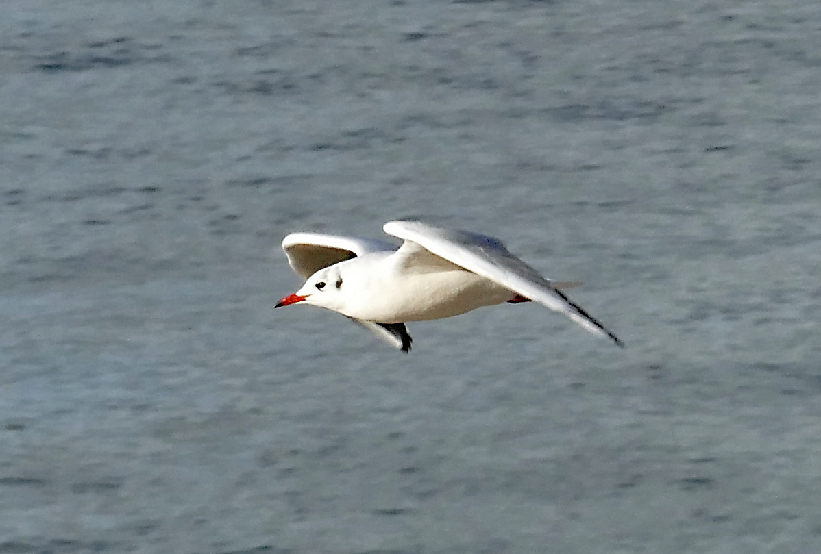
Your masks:
<svg viewBox="0 0 821 554"><path fill-rule="evenodd" d="M622 346L621 341L612 332L580 306L573 304L561 291L557 291L556 286L534 268L508 252L501 240L467 231L433 227L422 222L387 222L383 229L388 235L406 240L406 245L402 245L399 250L400 255L407 255L410 258L415 255L424 256L426 253L421 253L415 245L408 245L407 241L416 243L448 262L507 287L560 314L565 314L587 331L610 337L617 345ZM412 265L412 260L406 262L406 266Z"/></svg>

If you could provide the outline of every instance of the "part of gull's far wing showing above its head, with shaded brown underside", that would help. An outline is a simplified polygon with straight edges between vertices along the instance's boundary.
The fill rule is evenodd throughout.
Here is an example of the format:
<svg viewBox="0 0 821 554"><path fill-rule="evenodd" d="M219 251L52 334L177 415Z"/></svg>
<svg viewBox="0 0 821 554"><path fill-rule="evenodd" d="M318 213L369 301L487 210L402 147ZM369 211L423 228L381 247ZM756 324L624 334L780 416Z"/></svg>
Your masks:
<svg viewBox="0 0 821 554"><path fill-rule="evenodd" d="M322 268L346 259L381 250L397 250L383 240L358 236L323 235L321 233L291 233L282 240L282 250L294 272L307 279Z"/></svg>

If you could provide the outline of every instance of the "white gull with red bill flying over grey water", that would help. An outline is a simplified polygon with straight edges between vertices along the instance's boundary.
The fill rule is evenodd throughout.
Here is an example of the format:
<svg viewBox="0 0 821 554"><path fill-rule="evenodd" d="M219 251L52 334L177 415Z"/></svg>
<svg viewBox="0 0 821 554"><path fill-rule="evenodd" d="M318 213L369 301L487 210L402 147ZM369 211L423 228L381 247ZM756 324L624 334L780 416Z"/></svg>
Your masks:
<svg viewBox="0 0 821 554"><path fill-rule="evenodd" d="M562 292L581 283L545 279L501 240L419 221L387 222L383 231L405 242L397 249L383 240L354 236L286 236L282 250L306 281L274 308L309 304L330 309L408 352L412 339L406 322L534 301L623 346Z"/></svg>

